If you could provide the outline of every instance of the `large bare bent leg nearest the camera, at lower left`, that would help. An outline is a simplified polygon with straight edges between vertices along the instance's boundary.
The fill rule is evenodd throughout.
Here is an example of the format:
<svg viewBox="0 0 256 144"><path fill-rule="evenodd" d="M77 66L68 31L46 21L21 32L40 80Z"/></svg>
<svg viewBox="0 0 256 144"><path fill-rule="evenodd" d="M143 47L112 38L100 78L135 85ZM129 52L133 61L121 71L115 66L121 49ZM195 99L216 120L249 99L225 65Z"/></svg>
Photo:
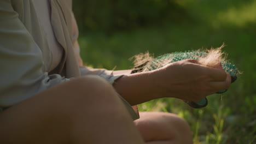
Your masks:
<svg viewBox="0 0 256 144"><path fill-rule="evenodd" d="M144 143L112 86L62 83L0 113L1 143Z"/></svg>

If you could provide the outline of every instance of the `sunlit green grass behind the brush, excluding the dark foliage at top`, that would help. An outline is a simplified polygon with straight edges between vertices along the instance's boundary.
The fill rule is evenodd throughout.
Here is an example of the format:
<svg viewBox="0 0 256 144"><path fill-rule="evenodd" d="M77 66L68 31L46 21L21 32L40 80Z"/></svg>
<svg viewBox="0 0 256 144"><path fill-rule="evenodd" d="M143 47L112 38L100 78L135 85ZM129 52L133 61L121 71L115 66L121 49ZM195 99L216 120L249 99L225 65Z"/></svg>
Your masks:
<svg viewBox="0 0 256 144"><path fill-rule="evenodd" d="M256 1L177 1L193 21L107 35L82 33L79 39L85 64L95 68L130 69L133 55L149 51L155 56L175 51L218 47L243 74L228 92L208 97L203 109L164 98L139 105L141 111L165 111L185 118L194 143L256 143Z"/></svg>

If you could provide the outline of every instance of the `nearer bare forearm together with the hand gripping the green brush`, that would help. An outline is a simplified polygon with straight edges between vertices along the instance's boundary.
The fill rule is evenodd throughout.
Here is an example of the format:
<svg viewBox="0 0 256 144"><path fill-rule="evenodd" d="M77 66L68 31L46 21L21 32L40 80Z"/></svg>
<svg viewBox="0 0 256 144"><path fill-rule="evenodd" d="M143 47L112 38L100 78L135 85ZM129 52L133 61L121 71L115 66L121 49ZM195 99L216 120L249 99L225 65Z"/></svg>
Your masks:
<svg viewBox="0 0 256 144"><path fill-rule="evenodd" d="M125 75L113 86L131 105L164 97L200 101L207 95L228 89L231 78L221 67L197 63L195 59L185 59L160 69Z"/></svg>

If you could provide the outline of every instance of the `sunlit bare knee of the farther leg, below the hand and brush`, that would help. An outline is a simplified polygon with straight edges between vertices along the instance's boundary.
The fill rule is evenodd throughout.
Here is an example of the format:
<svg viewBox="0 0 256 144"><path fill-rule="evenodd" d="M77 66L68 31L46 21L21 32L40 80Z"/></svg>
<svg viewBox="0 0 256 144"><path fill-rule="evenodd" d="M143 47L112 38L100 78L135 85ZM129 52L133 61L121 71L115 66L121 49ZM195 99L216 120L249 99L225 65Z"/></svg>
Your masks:
<svg viewBox="0 0 256 144"><path fill-rule="evenodd" d="M191 144L192 134L187 122L172 113L141 112L135 121L147 144Z"/></svg>

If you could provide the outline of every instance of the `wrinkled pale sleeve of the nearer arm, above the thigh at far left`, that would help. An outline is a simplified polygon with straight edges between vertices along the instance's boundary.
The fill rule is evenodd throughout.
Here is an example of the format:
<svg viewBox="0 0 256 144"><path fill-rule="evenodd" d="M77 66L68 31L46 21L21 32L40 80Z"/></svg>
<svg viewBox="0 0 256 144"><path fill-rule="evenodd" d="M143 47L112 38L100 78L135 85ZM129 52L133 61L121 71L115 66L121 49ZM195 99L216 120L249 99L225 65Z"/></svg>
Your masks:
<svg viewBox="0 0 256 144"><path fill-rule="evenodd" d="M0 59L0 108L69 80L43 71L42 51L10 0L0 1Z"/></svg>

